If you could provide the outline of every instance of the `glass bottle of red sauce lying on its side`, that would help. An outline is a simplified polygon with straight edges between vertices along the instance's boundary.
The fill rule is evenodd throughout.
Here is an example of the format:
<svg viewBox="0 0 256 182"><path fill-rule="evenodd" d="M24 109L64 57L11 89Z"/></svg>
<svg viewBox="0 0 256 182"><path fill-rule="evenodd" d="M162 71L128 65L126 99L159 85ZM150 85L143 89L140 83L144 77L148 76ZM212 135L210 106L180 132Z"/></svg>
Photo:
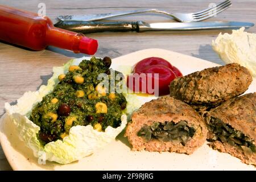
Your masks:
<svg viewBox="0 0 256 182"><path fill-rule="evenodd" d="M47 16L0 5L0 40L36 51L55 46L93 55L97 40L53 26Z"/></svg>

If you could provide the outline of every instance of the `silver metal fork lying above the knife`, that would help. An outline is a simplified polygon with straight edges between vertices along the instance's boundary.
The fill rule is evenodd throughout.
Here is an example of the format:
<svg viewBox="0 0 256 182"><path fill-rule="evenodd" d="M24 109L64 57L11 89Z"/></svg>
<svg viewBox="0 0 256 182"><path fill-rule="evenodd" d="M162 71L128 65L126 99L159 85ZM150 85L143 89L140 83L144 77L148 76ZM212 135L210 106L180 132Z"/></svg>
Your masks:
<svg viewBox="0 0 256 182"><path fill-rule="evenodd" d="M97 15L68 15L68 16L58 16L59 20L82 20L82 21L96 21L102 20L106 18L113 18L117 16L123 15L131 15L138 13L159 13L171 16L178 22L199 22L201 20L205 20L211 18L212 16L221 13L222 11L228 9L232 6L230 0L226 0L224 2L218 3L218 5L209 7L203 11L199 11L197 13L168 13L163 10L158 9L147 9L147 10L134 10L134 11L119 11L117 13L108 13L108 14L97 14Z"/></svg>

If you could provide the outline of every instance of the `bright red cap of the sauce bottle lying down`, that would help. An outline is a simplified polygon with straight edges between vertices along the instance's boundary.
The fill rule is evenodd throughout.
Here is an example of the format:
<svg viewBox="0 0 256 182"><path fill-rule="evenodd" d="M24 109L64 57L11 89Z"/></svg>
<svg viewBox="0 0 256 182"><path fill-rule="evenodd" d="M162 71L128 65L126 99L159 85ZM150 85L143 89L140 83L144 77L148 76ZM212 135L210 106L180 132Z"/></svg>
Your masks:
<svg viewBox="0 0 256 182"><path fill-rule="evenodd" d="M98 42L95 39L86 38L86 36L80 39L79 50L81 53L87 55L94 55L98 49Z"/></svg>

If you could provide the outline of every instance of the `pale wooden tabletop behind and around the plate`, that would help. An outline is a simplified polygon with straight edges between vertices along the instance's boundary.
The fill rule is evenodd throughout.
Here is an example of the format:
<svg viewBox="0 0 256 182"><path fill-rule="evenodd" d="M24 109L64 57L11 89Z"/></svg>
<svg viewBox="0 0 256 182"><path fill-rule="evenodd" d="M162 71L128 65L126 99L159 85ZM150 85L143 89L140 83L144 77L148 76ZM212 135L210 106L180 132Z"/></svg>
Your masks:
<svg viewBox="0 0 256 182"><path fill-rule="evenodd" d="M172 12L191 13L208 7L211 2L222 0L190 1L190 0L163 0L163 1L121 1L121 0L0 0L0 4L9 5L19 9L38 11L40 2L46 3L46 14L55 22L57 15L65 14L99 14L117 10L134 9L164 9ZM237 20L256 23L255 0L233 0L233 6L224 13L210 20ZM150 14L118 18L124 20L144 20L147 22L168 22L166 16L152 16ZM115 19L115 20L118 20ZM227 31L225 31L227 32ZM256 32L256 27L249 32ZM164 48L171 51L200 57L223 64L210 44L220 31L195 32L104 32L89 34L99 43L96 56L110 56L112 58L146 48ZM49 47L44 51L30 51L0 42L0 116L5 112L4 103L15 104L17 98L28 90L36 90L40 85L46 84L51 77L52 67L59 66L72 57L81 57L75 53ZM189 61L189 60L188 60ZM0 147L0 170L9 170L11 167Z"/></svg>

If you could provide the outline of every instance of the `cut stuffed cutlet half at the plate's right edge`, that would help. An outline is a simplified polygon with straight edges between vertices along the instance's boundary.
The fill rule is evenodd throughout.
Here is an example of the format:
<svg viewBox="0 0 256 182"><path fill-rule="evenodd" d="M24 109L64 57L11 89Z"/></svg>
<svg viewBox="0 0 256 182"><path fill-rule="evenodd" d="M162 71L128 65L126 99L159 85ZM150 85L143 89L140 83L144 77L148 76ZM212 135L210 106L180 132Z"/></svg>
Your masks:
<svg viewBox="0 0 256 182"><path fill-rule="evenodd" d="M256 165L256 93L224 102L205 114L209 146Z"/></svg>

